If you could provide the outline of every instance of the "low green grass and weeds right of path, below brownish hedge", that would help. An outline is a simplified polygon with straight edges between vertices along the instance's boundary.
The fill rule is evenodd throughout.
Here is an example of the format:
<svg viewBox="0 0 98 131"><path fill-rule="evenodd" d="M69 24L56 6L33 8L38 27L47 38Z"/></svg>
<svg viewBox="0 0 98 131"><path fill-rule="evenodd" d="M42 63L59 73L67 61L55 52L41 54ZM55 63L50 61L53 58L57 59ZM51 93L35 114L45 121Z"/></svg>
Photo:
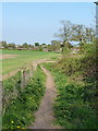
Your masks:
<svg viewBox="0 0 98 131"><path fill-rule="evenodd" d="M57 63L44 63L44 67L51 71L58 96L53 105L56 123L65 129L97 129L96 110L91 107L88 92L89 83L72 81L66 76ZM89 99L87 98L89 94Z"/></svg>

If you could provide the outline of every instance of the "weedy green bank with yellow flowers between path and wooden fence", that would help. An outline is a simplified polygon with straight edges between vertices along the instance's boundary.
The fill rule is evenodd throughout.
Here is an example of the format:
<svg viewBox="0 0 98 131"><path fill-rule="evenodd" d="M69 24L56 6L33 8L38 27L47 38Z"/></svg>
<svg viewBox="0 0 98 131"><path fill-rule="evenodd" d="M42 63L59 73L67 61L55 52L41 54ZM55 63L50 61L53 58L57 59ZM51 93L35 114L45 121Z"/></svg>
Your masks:
<svg viewBox="0 0 98 131"><path fill-rule="evenodd" d="M24 91L19 90L17 98L10 102L2 117L3 129L25 129L35 121L34 112L38 109L45 93L45 78L38 67ZM9 80L7 85L11 87Z"/></svg>

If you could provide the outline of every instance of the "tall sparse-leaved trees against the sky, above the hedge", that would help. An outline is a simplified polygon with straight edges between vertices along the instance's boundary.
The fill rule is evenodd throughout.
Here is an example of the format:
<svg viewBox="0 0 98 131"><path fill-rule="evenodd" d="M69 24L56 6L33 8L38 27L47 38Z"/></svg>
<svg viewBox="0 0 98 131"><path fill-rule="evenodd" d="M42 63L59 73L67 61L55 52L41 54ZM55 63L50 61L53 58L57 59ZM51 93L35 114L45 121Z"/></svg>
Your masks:
<svg viewBox="0 0 98 131"><path fill-rule="evenodd" d="M56 34L62 41L62 46L72 48L71 41L78 41L79 45L84 43L91 43L95 39L96 32L91 27L86 27L83 24L72 24L70 21L61 21L62 28L60 33Z"/></svg>

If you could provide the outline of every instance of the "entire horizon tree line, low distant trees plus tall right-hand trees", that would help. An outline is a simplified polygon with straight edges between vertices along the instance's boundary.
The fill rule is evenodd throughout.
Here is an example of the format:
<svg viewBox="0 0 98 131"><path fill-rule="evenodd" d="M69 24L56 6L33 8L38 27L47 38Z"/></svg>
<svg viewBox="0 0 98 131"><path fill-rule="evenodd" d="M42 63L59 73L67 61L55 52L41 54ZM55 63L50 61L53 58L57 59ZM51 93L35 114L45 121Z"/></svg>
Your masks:
<svg viewBox="0 0 98 131"><path fill-rule="evenodd" d="M60 33L56 34L59 40L51 40L51 44L39 44L34 45L24 43L23 45L7 44L1 41L1 46L8 49L34 49L39 51L57 51L60 52L65 48L73 48L71 41L78 41L79 47L83 47L85 43L91 43L95 39L95 29L86 27L83 24L72 24L70 21L61 21L62 27Z"/></svg>

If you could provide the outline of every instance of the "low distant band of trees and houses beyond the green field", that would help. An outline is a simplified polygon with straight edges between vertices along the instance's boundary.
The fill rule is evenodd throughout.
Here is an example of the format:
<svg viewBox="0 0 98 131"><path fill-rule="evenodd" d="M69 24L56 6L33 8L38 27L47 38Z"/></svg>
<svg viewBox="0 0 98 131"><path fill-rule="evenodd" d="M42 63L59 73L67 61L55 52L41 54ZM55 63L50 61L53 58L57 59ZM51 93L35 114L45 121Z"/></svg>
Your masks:
<svg viewBox="0 0 98 131"><path fill-rule="evenodd" d="M60 52L61 48L61 41L58 40L51 40L51 44L39 44L35 43L34 45L24 43L23 45L15 45L14 43L8 44L7 41L0 41L0 47L4 49L32 49L32 50L38 50L38 51L58 51Z"/></svg>

